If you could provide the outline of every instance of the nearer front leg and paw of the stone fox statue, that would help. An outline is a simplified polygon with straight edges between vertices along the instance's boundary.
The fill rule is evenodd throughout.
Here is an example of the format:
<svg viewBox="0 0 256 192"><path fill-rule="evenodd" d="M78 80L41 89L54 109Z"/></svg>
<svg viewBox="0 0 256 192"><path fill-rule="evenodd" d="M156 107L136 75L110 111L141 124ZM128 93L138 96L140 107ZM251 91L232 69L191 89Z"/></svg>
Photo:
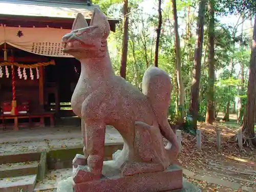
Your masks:
<svg viewBox="0 0 256 192"><path fill-rule="evenodd" d="M75 183L99 180L102 176L106 125L103 121L86 120L85 126L88 167L77 166L73 175Z"/></svg>

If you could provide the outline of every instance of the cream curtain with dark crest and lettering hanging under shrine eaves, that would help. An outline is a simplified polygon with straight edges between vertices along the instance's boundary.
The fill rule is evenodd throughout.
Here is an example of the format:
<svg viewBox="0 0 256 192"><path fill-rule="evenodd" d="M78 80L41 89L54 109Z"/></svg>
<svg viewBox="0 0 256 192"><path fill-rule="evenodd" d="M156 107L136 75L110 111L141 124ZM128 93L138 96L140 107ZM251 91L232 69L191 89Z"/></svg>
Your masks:
<svg viewBox="0 0 256 192"><path fill-rule="evenodd" d="M3 27L4 34L1 35L0 45L6 41L7 44L18 49L38 55L51 57L73 57L61 51L61 38L70 33L67 29L56 28L23 28ZM4 39L1 39L3 38Z"/></svg>

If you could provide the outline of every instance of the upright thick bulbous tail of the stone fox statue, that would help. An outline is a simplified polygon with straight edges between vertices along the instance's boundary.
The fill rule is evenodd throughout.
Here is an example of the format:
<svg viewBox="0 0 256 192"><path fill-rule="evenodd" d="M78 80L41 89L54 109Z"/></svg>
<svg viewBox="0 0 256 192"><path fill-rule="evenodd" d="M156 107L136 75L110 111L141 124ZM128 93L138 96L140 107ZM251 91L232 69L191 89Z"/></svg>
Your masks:
<svg viewBox="0 0 256 192"><path fill-rule="evenodd" d="M170 77L164 70L151 66L145 71L142 79L142 93L150 101L161 134L168 141L165 149L169 152L170 161L176 159L179 149L176 135L167 120L171 91Z"/></svg>

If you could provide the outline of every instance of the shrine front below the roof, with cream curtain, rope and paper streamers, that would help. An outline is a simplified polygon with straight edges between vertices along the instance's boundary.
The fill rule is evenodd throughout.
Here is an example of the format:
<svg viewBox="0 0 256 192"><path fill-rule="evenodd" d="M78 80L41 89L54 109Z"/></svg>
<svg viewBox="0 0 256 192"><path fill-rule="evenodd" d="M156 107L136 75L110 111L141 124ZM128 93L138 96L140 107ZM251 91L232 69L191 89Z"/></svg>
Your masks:
<svg viewBox="0 0 256 192"><path fill-rule="evenodd" d="M61 37L68 32L0 27L0 128L11 124L15 130L19 126L44 126L45 119L54 126L55 119L61 117L61 103L69 109L65 116L72 116L70 99L80 65L61 52ZM30 38L32 34L36 35ZM44 38L44 34L55 38Z"/></svg>

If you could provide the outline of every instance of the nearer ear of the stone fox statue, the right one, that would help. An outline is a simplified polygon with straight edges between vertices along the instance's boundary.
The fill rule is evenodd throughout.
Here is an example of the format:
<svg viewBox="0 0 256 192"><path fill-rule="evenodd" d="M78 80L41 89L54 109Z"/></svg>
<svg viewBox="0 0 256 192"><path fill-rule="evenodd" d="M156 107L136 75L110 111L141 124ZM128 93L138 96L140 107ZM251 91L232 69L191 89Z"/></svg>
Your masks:
<svg viewBox="0 0 256 192"><path fill-rule="evenodd" d="M95 8L93 16L90 22L90 26L99 26L99 30L103 33L102 38L108 38L110 34L110 24L106 15L100 11L100 9Z"/></svg>

